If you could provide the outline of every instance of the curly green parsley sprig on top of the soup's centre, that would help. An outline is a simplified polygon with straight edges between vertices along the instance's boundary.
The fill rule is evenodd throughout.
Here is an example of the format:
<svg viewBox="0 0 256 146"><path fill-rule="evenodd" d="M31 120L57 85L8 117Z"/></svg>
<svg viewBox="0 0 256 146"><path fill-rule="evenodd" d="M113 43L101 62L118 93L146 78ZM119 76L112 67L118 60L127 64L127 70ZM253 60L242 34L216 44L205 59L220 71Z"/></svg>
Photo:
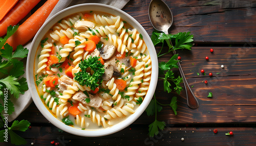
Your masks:
<svg viewBox="0 0 256 146"><path fill-rule="evenodd" d="M104 65L98 59L99 57L90 56L88 59L82 60L79 63L81 71L75 73L75 80L80 85L86 85L92 90L95 90L101 84L105 69ZM87 72L87 68L90 68L91 72Z"/></svg>

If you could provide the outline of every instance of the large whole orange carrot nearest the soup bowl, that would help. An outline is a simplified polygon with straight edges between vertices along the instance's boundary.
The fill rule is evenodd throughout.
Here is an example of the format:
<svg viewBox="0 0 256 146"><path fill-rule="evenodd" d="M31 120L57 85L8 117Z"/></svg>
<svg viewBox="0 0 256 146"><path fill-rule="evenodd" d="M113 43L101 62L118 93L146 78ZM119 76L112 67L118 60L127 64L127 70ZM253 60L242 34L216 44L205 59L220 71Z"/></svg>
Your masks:
<svg viewBox="0 0 256 146"><path fill-rule="evenodd" d="M35 36L58 1L59 0L48 0L22 25L20 25L17 31L11 37L7 39L6 43L13 47L13 51L16 50L16 47L19 44L24 45Z"/></svg>

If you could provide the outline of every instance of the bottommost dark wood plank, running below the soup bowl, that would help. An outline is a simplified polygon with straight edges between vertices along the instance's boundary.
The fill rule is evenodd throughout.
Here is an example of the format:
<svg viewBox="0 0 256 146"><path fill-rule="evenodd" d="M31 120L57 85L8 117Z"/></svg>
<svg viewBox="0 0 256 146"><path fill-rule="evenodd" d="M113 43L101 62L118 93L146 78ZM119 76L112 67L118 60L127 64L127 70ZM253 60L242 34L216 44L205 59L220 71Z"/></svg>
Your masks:
<svg viewBox="0 0 256 146"><path fill-rule="evenodd" d="M213 132L218 129L218 133ZM26 145L51 145L51 141L60 145L253 145L256 142L255 128L248 127L173 127L168 125L155 137L147 135L145 125L131 125L115 134L101 137L81 137L66 132L59 132L54 126L33 126L26 132L17 132L26 140ZM225 133L233 132L232 136ZM37 134L35 134L37 133ZM184 141L181 140L184 138ZM6 143L5 143L6 144Z"/></svg>

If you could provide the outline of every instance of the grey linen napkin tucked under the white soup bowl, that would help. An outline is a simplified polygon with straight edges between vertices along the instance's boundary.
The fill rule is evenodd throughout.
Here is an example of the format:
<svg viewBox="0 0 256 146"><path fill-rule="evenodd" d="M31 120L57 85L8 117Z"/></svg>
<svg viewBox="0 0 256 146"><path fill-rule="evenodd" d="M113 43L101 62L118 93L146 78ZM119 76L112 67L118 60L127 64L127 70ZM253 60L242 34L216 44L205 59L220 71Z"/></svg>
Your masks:
<svg viewBox="0 0 256 146"><path fill-rule="evenodd" d="M130 0L59 0L57 5L54 7L52 12L50 13L49 19L51 16L56 14L57 12L78 4L85 4L85 3L100 3L100 4L106 4L110 5L119 9L122 9ZM28 42L24 47L27 47L28 50L30 49L31 42ZM26 70L26 61L24 62L25 70ZM24 75L26 78L26 75ZM15 111L8 116L8 121L14 120L20 113L22 113L31 103L32 103L32 98L30 95L29 90L25 92L25 94L20 94L18 99L15 99L12 97L11 101L14 104Z"/></svg>

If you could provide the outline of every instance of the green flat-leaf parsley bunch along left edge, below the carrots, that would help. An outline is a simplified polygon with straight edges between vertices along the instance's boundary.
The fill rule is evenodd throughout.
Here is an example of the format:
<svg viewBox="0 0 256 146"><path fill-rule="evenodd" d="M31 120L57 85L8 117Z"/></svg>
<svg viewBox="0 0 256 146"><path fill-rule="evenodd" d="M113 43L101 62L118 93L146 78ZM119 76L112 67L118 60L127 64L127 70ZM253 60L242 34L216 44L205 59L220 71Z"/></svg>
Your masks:
<svg viewBox="0 0 256 146"><path fill-rule="evenodd" d="M22 45L18 45L16 51L13 53L12 46L6 43L6 40L14 34L17 29L18 26L9 26L7 28L7 35L4 38L0 37L0 48L3 48L3 46L5 48L1 49L0 53L0 72L3 74L0 77L0 99L3 101L2 103L4 103L3 105L0 103L0 116L2 118L2 121L0 121L0 128L5 127L8 130L8 136L11 139L10 141L15 145L26 144L27 141L17 135L14 131L26 131L30 126L30 123L27 120L14 120L11 127L4 125L6 119L3 114L10 115L14 112L14 105L10 99L11 95L18 99L19 94L24 94L25 91L28 90L26 78L20 77L25 73L24 63L18 59L27 57L29 51ZM6 104L6 101L8 104ZM0 131L0 142L4 142L5 140L4 132L6 129Z"/></svg>

